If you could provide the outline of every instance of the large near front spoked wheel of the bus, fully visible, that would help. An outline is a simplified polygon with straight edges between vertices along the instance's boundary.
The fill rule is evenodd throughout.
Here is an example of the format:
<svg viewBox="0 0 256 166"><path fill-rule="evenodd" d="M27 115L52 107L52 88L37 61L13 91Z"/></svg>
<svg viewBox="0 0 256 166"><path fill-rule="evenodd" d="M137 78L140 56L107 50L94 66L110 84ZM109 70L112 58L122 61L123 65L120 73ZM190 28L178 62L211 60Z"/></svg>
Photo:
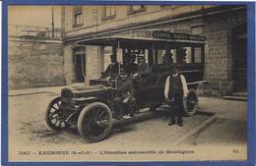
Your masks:
<svg viewBox="0 0 256 166"><path fill-rule="evenodd" d="M80 113L78 131L88 141L95 142L106 138L111 127L111 111L102 102L89 104Z"/></svg>

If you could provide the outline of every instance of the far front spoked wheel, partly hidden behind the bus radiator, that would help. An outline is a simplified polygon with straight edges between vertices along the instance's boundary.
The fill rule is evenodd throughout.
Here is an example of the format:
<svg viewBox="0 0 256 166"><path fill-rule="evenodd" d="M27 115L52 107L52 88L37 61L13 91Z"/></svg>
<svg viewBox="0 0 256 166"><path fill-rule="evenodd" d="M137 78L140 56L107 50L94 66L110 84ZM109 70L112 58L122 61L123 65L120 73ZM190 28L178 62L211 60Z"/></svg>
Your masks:
<svg viewBox="0 0 256 166"><path fill-rule="evenodd" d="M60 103L60 97L54 98L49 103L45 114L47 125L55 131L61 131L70 126L65 121L64 113L60 107Z"/></svg>

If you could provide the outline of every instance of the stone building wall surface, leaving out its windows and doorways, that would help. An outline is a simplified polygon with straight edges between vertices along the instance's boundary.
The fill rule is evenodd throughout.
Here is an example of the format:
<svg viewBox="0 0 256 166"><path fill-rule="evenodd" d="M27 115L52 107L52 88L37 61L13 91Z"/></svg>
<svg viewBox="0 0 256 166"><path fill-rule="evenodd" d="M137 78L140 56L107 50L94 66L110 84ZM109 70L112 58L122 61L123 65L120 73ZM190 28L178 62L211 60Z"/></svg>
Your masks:
<svg viewBox="0 0 256 166"><path fill-rule="evenodd" d="M70 25L70 22L72 23L72 16L70 16L72 12L70 11L73 9L69 7L65 9L65 13L69 17L65 19L67 27L65 28L64 41L69 44L71 40L79 41L80 38L91 37L91 35L96 35L98 32L101 32L101 36L112 35L118 33L116 30L118 28L164 28L170 31L192 32L192 28L199 25L203 28L204 35L207 38L204 80L209 81L209 83L205 85L206 93L225 95L232 92L233 85L231 30L239 25L246 24L246 9L232 10L232 8L236 8L232 7L230 8L231 10L228 10L228 7L225 8L223 6L220 9L212 10L210 13L204 12L212 7L147 6L146 11L143 13L127 15L127 6L122 6L118 7L115 19L106 21L101 20L99 12L102 10L100 7L84 7L84 11L88 15L84 15L86 17L85 24L80 28L72 28ZM240 6L240 8L242 7ZM197 13L192 14L192 12L197 11L203 11L203 13L200 15ZM163 22L162 24L156 24L157 21ZM105 31L105 33L102 31ZM102 61L102 52L98 50L100 49L87 47L87 58L90 60L87 61L89 64L87 64L86 82L91 78L96 78L102 70L102 67L99 66L99 62Z"/></svg>

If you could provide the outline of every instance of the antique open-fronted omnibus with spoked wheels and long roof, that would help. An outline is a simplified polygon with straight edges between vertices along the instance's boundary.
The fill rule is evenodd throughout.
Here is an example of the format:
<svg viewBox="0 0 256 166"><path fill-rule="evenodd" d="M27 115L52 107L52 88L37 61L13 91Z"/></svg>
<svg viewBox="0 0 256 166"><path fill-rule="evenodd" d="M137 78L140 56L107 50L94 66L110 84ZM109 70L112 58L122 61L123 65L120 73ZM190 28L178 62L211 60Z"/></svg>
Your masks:
<svg viewBox="0 0 256 166"><path fill-rule="evenodd" d="M113 119L119 120L119 110L113 102L120 94L122 83L131 78L137 108L148 107L154 111L165 103L164 84L173 67L179 68L189 88L187 98L183 99L184 115L195 115L198 109L197 86L206 83L203 80L205 40L204 35L143 29L79 41L78 45L111 47L112 54L121 56L118 75L110 79L100 77L90 80L88 86L63 88L61 95L47 107L47 125L55 131L76 126L86 140L100 141L108 136ZM128 76L123 68L126 56L130 54L143 56L150 71L136 79ZM129 110L124 111L124 115L128 114Z"/></svg>

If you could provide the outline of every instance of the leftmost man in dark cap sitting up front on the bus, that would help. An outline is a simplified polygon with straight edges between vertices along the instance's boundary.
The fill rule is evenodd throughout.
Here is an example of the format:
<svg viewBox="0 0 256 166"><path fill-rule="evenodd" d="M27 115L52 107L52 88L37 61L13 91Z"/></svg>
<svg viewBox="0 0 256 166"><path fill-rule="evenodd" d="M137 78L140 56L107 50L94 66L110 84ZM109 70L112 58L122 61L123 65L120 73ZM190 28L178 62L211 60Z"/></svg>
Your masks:
<svg viewBox="0 0 256 166"><path fill-rule="evenodd" d="M119 63L116 60L116 55L110 55L111 63L107 66L105 72L101 73L102 77L115 78L119 73Z"/></svg>

